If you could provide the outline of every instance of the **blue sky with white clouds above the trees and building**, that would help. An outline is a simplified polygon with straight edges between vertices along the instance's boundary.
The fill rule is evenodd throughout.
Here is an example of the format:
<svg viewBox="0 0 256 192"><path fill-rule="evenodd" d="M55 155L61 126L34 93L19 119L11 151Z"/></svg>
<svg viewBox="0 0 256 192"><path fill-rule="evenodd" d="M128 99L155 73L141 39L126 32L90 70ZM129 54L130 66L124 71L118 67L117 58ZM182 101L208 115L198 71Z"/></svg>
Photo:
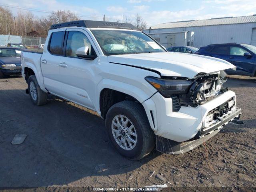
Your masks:
<svg viewBox="0 0 256 192"><path fill-rule="evenodd" d="M0 0L14 14L29 9L36 17L70 10L84 20L122 22L122 15L139 13L147 27L165 22L256 14L256 0ZM18 9L20 8L20 9Z"/></svg>

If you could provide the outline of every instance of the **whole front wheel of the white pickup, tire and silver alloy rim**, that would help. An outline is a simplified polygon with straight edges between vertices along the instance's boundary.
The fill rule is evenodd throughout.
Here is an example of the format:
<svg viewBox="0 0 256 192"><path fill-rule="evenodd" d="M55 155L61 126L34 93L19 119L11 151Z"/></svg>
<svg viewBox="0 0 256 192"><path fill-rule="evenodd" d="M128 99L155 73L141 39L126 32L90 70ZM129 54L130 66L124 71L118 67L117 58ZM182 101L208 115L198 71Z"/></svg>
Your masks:
<svg viewBox="0 0 256 192"><path fill-rule="evenodd" d="M106 115L106 129L116 150L131 160L144 158L155 146L144 108L136 102L114 104Z"/></svg>

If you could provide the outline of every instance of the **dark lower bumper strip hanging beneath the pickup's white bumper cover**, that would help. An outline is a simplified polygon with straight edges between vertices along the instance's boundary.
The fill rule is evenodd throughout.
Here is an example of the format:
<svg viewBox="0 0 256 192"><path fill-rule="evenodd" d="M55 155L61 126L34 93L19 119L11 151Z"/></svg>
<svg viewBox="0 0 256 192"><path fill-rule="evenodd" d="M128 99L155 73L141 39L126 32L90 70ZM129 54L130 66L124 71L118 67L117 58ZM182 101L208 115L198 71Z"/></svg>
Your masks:
<svg viewBox="0 0 256 192"><path fill-rule="evenodd" d="M241 109L236 108L234 112L223 118L221 122L210 126L205 131L199 131L193 139L186 142L176 142L160 136L156 136L156 149L166 154L181 154L188 152L206 140L210 139L212 136L216 135L224 125L228 124L228 122L238 117L240 114ZM200 137L201 135L202 137Z"/></svg>

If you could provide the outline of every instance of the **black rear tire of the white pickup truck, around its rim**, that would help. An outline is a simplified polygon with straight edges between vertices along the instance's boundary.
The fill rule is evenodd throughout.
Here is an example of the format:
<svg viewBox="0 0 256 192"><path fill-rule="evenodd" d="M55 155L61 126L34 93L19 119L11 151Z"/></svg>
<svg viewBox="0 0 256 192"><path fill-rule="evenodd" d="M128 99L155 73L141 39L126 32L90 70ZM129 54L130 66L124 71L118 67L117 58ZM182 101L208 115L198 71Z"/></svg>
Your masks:
<svg viewBox="0 0 256 192"><path fill-rule="evenodd" d="M36 88L35 89L36 98L35 97L33 98L32 92L30 91L30 86L33 85L31 82L33 82L33 84ZM32 89L32 87L31 87L31 89ZM35 75L31 75L28 78L28 94L29 94L30 99L32 100L34 105L40 106L40 105L46 104L46 102L47 102L47 93L41 90L40 86L38 85Z"/></svg>

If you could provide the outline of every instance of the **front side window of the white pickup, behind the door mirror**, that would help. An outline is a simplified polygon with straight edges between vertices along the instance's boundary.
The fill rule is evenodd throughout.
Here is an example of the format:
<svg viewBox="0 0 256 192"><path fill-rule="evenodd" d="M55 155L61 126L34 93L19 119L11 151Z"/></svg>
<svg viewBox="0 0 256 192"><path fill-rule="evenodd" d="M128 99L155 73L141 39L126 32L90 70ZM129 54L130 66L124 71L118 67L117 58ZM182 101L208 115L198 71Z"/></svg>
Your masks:
<svg viewBox="0 0 256 192"><path fill-rule="evenodd" d="M76 50L81 47L89 47L89 55L95 55L92 44L86 37L86 35L79 31L68 32L66 56L76 57Z"/></svg>

